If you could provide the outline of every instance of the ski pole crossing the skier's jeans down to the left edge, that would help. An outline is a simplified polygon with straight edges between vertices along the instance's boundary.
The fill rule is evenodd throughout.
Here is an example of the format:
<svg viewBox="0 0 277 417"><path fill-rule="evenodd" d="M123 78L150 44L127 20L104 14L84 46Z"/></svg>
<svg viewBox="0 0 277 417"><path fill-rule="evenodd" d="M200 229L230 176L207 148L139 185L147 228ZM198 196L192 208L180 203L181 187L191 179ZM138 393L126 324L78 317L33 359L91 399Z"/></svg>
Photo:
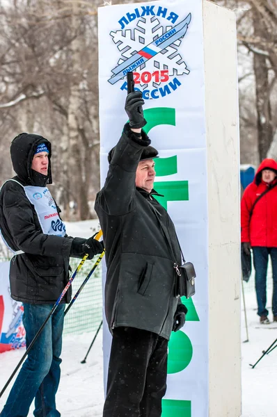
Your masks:
<svg viewBox="0 0 277 417"><path fill-rule="evenodd" d="M97 236L95 236L95 239L99 240L100 237L102 236L102 230L100 230L97 233ZM54 304L52 310L50 311L49 315L47 316L47 318L45 319L45 322L42 323L42 325L40 326L40 329L38 330L38 333L35 335L35 337L33 338L33 340L31 341L28 349L26 349L26 352L24 352L24 355L22 356L22 359L20 359L20 361L17 363L17 366L15 367L15 370L13 371L12 375L10 375L8 381L6 382L5 386L3 387L1 393L0 393L0 398L3 395L3 393L6 391L6 389L8 388L8 385L10 384L10 381L13 379L13 377L15 376L15 373L17 373L17 370L19 369L19 367L21 366L22 362L24 361L24 359L26 358L27 354L30 352L31 348L33 347L35 341L38 339L38 336L40 336L40 333L42 332L42 330L45 328L45 325L47 324L49 318L52 316L52 314L54 313L54 311L56 310L58 304L60 304L63 296L65 295L66 291L68 291L68 288L70 287L70 285L72 284L73 279L76 277L77 273L79 272L79 270L81 269L81 267L84 265L84 262L86 261L88 257L88 254L85 254L84 258L81 260L81 262L79 263L79 265L77 266L77 269L75 270L74 274L72 275L72 277L70 277L68 284L66 284L65 288L63 289L61 295L58 297L58 300L56 300L56 303Z"/></svg>

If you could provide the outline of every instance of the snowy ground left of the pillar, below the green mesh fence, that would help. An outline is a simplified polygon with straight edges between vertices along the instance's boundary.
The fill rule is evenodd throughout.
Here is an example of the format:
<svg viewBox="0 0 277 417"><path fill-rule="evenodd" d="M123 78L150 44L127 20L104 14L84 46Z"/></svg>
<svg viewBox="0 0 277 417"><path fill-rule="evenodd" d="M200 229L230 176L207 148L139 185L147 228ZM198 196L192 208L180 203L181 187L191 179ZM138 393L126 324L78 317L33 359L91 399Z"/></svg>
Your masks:
<svg viewBox="0 0 277 417"><path fill-rule="evenodd" d="M94 334L82 336L65 336L61 364L61 383L56 396L57 409L63 417L94 417L102 416L104 402L103 373L102 373L102 333L97 335L95 343L84 359ZM0 387L15 369L24 348L0 354ZM8 397L13 382L0 400L0 411ZM33 416L33 405L29 417Z"/></svg>

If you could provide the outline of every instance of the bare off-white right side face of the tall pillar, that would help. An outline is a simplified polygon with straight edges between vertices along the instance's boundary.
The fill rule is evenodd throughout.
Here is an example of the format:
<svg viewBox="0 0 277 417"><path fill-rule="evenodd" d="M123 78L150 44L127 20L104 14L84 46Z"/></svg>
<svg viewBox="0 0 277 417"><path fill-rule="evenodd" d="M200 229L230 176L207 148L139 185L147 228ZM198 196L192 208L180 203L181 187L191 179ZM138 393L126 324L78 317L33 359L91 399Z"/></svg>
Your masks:
<svg viewBox="0 0 277 417"><path fill-rule="evenodd" d="M209 218L209 416L241 415L235 13L203 2Z"/></svg>

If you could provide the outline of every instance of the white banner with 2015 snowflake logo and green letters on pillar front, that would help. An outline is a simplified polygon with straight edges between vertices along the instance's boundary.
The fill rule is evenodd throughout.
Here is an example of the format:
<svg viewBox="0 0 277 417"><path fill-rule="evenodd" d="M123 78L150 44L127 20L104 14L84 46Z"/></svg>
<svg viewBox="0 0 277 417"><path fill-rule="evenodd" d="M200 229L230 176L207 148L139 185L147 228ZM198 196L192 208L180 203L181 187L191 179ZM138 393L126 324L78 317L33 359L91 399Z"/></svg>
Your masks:
<svg viewBox="0 0 277 417"><path fill-rule="evenodd" d="M126 74L141 90L146 133L159 150L154 188L171 215L196 295L182 300L186 325L168 345L163 417L207 417L207 155L202 0L153 1L99 8L101 181L107 154L127 122ZM111 336L104 326L104 377Z"/></svg>

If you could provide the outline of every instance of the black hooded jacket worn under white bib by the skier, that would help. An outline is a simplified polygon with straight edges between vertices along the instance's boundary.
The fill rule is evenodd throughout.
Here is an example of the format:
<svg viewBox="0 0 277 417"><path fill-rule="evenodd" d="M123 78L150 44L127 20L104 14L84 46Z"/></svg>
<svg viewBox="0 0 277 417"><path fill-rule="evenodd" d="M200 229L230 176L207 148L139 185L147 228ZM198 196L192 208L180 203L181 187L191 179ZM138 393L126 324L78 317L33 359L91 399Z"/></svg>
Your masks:
<svg viewBox="0 0 277 417"><path fill-rule="evenodd" d="M49 149L47 176L31 170L35 150L42 142ZM13 140L10 156L17 174L13 179L22 186L45 187L52 183L51 143L47 139L22 133ZM73 238L42 233L35 208L19 183L7 181L0 192L2 237L13 251L24 252L10 261L11 296L29 304L54 303L68 283ZM70 301L70 295L71 289L65 294L64 302Z"/></svg>

